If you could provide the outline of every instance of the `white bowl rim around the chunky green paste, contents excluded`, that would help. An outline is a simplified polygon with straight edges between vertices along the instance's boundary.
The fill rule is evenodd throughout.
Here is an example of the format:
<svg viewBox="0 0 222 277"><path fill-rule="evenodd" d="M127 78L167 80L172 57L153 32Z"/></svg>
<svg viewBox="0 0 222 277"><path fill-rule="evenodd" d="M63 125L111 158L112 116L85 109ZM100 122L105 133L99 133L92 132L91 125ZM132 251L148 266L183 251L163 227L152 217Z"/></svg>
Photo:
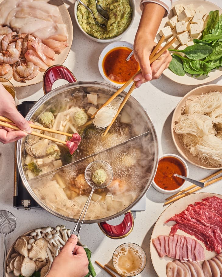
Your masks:
<svg viewBox="0 0 222 277"><path fill-rule="evenodd" d="M92 39L92 40L94 40L94 41L96 41L96 42L108 43L108 42L113 42L113 41L119 40L123 35L126 34L126 32L128 32L128 30L130 29L130 27L131 27L131 25L132 25L132 23L133 23L133 21L134 21L134 16L135 16L135 4L134 4L134 1L133 1L133 0L129 0L129 1L130 1L130 6L131 6L131 8L132 8L132 20L131 20L129 26L127 27L127 29L126 29L124 32L122 32L122 34L120 34L120 35L118 35L118 36L116 36L116 37L114 37L114 38L112 38L112 39L97 39L97 38L94 38L94 37L91 36L91 35L88 35L88 34L82 29L82 27L80 26L80 24L79 24L79 22L78 22L78 18L77 18L77 7L78 7L78 5L81 5L81 4L79 4L79 2L76 1L76 2L75 2L75 6L74 6L74 15L75 15L76 23L77 23L77 25L78 25L80 31L81 31L85 36L87 36L88 39Z"/></svg>

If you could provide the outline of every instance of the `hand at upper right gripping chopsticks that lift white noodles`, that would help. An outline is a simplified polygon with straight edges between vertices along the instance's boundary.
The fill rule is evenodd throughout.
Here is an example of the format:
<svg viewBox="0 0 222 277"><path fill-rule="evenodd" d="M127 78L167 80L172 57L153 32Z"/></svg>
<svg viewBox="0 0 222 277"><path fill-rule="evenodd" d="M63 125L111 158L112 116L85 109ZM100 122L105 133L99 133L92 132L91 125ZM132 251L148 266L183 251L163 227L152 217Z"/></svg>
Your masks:
<svg viewBox="0 0 222 277"><path fill-rule="evenodd" d="M150 65L149 56L155 45L156 43L154 42L151 35L137 32L134 40L134 57L139 63L141 69L141 73L134 77L134 81L137 81L137 88L141 86L142 83L151 81L153 79L158 79L172 60L169 51L166 50ZM161 48L162 47L160 47L159 50Z"/></svg>

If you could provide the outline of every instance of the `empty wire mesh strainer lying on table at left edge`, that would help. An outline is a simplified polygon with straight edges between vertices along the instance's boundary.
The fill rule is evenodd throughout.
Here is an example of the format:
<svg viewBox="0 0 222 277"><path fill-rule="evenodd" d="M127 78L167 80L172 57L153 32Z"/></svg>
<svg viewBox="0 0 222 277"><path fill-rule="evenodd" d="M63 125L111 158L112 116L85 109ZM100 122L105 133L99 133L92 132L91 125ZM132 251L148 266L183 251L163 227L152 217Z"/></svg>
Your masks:
<svg viewBox="0 0 222 277"><path fill-rule="evenodd" d="M4 254L3 254L3 277L5 277L5 257L7 255L6 249L6 235L14 231L16 228L16 218L9 211L0 211L0 233L5 235L4 240Z"/></svg>

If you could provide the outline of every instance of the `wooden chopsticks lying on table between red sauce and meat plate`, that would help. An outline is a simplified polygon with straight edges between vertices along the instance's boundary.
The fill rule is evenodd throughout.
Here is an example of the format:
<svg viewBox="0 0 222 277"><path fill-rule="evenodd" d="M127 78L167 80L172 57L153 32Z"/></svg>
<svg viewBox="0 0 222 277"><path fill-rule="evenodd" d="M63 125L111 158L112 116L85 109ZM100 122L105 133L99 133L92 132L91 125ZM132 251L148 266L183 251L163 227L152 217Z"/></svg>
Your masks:
<svg viewBox="0 0 222 277"><path fill-rule="evenodd" d="M205 181L207 181L209 179L212 179L213 177L217 176L220 173L222 173L222 169L215 172L215 173L213 173L213 174L211 174L210 176L206 177L205 179L200 180L200 182L204 183L204 187L207 187L207 186L209 186L213 183L216 183L216 182L222 180L222 176L217 177L216 179L213 179L213 180L211 180L209 182L206 182L206 183L205 183ZM189 195L189 194L191 194L195 191L199 191L200 189L202 189L202 187L197 187L196 185L191 185L191 186L185 188L184 190L179 191L178 193L173 194L170 197L166 198L166 200L168 200L168 201L166 201L164 204L168 205L168 204L170 204L170 203L172 203L172 202L174 202L174 201L176 201L176 200L178 200L178 199L180 199L180 198L182 198L186 195Z"/></svg>

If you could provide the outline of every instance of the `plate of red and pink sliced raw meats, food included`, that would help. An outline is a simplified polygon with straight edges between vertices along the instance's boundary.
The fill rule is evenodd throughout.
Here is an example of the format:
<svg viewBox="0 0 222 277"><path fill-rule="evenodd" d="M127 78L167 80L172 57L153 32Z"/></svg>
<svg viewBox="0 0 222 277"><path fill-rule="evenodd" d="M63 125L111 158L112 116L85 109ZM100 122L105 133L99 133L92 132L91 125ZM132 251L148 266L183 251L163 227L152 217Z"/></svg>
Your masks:
<svg viewBox="0 0 222 277"><path fill-rule="evenodd" d="M151 235L150 256L157 275L220 276L221 222L220 194L193 193L170 204Z"/></svg>

